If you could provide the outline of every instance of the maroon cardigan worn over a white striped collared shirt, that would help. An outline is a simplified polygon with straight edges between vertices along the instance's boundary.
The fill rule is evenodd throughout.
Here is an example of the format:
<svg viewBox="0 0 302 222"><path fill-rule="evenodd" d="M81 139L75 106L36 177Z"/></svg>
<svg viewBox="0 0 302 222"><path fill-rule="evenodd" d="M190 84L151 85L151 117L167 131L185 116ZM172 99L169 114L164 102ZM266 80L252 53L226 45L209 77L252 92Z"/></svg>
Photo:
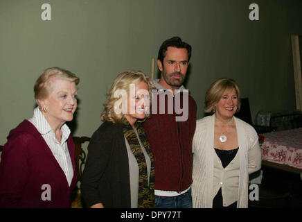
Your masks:
<svg viewBox="0 0 302 222"><path fill-rule="evenodd" d="M73 165L70 187L51 149L32 123L24 120L11 130L0 162L0 208L70 207L71 191L78 180L71 135L67 144ZM50 185L51 189L42 189L42 185ZM51 200L42 200L46 191L50 191Z"/></svg>

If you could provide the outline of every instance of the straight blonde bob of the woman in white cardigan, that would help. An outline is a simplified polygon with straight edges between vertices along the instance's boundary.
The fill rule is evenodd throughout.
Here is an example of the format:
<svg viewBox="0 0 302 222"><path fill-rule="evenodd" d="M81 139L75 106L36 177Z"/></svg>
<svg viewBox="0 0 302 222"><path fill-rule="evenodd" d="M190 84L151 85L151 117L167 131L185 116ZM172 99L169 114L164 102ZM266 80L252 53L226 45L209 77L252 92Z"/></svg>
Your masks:
<svg viewBox="0 0 302 222"><path fill-rule="evenodd" d="M231 91L235 89L237 98L238 98L238 108L237 112L240 110L240 89L235 82L235 80L231 78L220 78L216 80L206 91L206 99L205 104L206 108L204 109L205 112L215 112L214 105L220 101L223 96L223 93L227 91Z"/></svg>

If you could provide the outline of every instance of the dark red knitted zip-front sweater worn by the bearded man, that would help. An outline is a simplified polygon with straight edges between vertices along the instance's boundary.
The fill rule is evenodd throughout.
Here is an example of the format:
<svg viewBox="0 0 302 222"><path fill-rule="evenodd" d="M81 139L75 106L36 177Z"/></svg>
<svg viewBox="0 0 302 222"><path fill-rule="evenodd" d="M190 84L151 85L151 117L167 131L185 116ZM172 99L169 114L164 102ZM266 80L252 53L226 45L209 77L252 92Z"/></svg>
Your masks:
<svg viewBox="0 0 302 222"><path fill-rule="evenodd" d="M183 96L188 99L187 114L177 114L179 111L175 108L186 106L183 104ZM172 96L172 113L169 113L168 96L162 104L159 97L153 94L152 116L143 123L154 157L155 189L184 191L193 182L192 142L196 128L196 103L188 93L179 92L177 96ZM157 104L156 111L153 109L154 104ZM160 105L165 104L165 112L160 114ZM176 117L181 115L188 119L176 121Z"/></svg>

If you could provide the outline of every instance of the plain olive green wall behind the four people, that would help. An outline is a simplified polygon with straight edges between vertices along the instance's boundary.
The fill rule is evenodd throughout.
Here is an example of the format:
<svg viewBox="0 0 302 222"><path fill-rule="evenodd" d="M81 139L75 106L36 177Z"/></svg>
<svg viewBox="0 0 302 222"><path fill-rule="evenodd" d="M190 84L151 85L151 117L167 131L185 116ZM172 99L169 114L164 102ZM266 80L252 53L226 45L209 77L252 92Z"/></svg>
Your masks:
<svg viewBox="0 0 302 222"><path fill-rule="evenodd" d="M41 19L43 3L51 21ZM259 21L249 20L251 3ZM0 144L32 117L35 80L54 66L80 77L73 135L91 136L112 80L125 69L150 75L159 45L174 35L193 46L186 87L198 118L207 87L221 77L238 82L253 118L261 109L292 110L290 34L302 34L301 9L298 0L1 0Z"/></svg>

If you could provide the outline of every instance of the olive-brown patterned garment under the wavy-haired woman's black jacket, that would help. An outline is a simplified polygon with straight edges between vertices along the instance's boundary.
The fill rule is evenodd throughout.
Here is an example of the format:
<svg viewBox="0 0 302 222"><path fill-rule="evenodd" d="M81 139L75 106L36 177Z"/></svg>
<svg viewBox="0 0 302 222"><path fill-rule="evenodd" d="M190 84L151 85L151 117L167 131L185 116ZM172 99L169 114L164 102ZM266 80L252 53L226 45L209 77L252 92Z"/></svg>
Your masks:
<svg viewBox="0 0 302 222"><path fill-rule="evenodd" d="M139 165L139 208L150 208L155 207L154 202L154 159L152 155L152 151L150 148L150 144L148 142L147 136L145 135L145 130L141 123L136 121L135 123L136 131L141 139L141 144L145 147L145 151L147 151L150 161L151 161L151 169L150 169L150 178L148 185L148 171L147 164L145 162L145 155L143 155L143 150L141 149L141 145L139 144L139 139L136 137L136 133L134 129L127 121L127 119L123 119L123 133L127 139L127 142L131 148L131 151L136 158L137 164Z"/></svg>

